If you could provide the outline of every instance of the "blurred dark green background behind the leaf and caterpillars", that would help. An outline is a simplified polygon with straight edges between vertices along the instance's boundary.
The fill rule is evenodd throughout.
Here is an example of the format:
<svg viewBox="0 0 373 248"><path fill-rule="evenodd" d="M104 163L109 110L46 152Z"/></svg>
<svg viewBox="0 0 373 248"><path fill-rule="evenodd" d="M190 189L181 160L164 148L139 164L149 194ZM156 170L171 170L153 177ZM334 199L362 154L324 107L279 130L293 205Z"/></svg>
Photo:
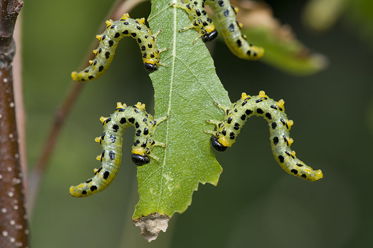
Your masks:
<svg viewBox="0 0 373 248"><path fill-rule="evenodd" d="M133 132L125 132L117 179L103 193L77 199L69 187L92 176L101 148L101 115L117 101L142 101L153 110L153 88L132 39L123 39L107 74L87 83L64 126L30 213L31 246L80 247L366 247L372 228L373 8L342 16L324 33L301 23L306 0L267 0L275 16L299 40L325 54L327 70L293 77L260 62L236 58L224 43L211 46L216 71L236 101L259 90L285 100L295 124L292 149L324 178L315 183L285 173L273 158L267 123L251 118L234 149L217 154L223 167L217 187L199 185L191 206L176 214L166 233L148 244L138 236L132 213L138 201L136 166L130 161ZM359 0L356 2L369 2ZM45 142L70 73L86 53L112 1L26 1L23 18L23 75L29 170ZM146 2L130 12L147 16ZM360 17L360 18L359 18ZM136 87L144 91L135 94ZM250 127L250 128L249 128ZM245 144L245 145L243 145Z"/></svg>

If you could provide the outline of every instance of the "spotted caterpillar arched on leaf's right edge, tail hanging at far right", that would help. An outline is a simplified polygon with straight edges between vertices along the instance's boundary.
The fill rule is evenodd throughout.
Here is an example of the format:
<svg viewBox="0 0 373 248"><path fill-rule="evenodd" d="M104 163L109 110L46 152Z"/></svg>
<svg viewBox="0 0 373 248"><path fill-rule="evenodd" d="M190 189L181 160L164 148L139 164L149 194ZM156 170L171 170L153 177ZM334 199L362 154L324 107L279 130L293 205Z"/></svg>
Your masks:
<svg viewBox="0 0 373 248"><path fill-rule="evenodd" d="M248 118L252 115L263 116L270 127L272 152L281 167L287 173L299 178L317 181L323 177L321 170L314 170L305 165L295 157L295 152L290 149L293 139L289 137L289 130L294 123L287 119L284 112L284 103L282 99L276 102L269 98L264 91L260 91L259 95L256 96L242 93L241 99L233 103L231 108L215 103L224 110L224 120L207 120L207 122L216 125L216 131L205 132L212 134L210 139L212 147L219 152L223 152L236 141L240 129Z"/></svg>

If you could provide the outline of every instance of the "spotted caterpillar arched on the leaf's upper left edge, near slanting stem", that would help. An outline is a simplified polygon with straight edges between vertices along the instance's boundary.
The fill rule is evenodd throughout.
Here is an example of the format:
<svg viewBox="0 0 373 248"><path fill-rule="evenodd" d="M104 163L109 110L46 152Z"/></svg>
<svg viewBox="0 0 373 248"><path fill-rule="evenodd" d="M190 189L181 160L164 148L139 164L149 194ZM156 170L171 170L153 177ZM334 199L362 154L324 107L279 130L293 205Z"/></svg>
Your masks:
<svg viewBox="0 0 373 248"><path fill-rule="evenodd" d="M71 77L79 82L87 82L101 77L109 68L115 49L124 36L136 39L140 46L145 70L150 73L157 71L159 65L165 66L160 62L160 53L165 50L158 50L155 44L155 39L160 31L153 35L152 30L145 25L145 18L132 19L128 13L123 14L118 21L107 20L105 31L96 36L99 41L97 49L93 50L96 57L89 61L90 66L83 71L72 72Z"/></svg>

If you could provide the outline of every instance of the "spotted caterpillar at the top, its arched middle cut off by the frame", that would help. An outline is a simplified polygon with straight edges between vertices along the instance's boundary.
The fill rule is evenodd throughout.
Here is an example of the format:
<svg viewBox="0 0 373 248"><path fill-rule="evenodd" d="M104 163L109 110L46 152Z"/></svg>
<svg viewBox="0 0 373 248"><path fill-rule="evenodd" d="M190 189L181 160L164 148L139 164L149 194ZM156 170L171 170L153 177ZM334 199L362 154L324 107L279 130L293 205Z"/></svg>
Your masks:
<svg viewBox="0 0 373 248"><path fill-rule="evenodd" d="M254 46L246 41L246 36L241 34L242 23L236 21L237 7L231 6L229 0L184 0L184 3L170 3L187 11L191 23L185 28L195 28L198 36L194 42L201 37L203 42L217 38L218 32L205 11L205 4L209 5L215 13L215 17L224 41L231 52L241 59L257 60L263 57L264 49Z"/></svg>

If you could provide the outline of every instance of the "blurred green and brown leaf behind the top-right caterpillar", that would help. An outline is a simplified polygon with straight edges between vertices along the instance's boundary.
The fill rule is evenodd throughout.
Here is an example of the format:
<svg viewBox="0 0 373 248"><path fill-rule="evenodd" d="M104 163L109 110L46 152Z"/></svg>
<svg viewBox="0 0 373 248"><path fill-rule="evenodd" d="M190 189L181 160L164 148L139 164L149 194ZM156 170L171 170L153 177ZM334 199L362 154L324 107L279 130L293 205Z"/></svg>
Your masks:
<svg viewBox="0 0 373 248"><path fill-rule="evenodd" d="M253 0L231 0L231 4L239 8L237 21L243 24L242 34L249 43L265 48L260 62L294 76L315 74L328 67L327 57L298 40L289 24L282 25L275 18L269 4Z"/></svg>

